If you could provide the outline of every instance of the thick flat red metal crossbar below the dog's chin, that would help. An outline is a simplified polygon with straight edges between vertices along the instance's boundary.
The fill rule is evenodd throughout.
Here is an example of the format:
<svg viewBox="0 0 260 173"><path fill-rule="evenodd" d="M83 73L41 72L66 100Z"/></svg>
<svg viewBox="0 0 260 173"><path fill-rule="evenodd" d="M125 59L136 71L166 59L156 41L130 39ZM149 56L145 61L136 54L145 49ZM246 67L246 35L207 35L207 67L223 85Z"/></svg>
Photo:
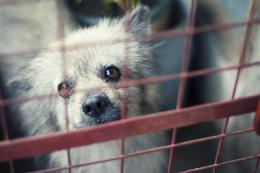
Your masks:
<svg viewBox="0 0 260 173"><path fill-rule="evenodd" d="M254 112L260 95L119 120L88 129L57 132L0 143L0 161L156 132ZM156 122L156 123L155 123ZM131 130L129 130L131 129ZM60 142L66 141L66 142Z"/></svg>

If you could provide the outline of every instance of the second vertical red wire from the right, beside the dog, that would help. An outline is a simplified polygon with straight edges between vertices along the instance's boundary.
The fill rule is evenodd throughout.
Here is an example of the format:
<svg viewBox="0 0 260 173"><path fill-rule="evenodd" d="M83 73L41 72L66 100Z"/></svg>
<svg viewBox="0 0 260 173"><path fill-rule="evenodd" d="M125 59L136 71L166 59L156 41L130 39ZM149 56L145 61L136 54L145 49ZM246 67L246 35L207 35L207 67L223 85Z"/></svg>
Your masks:
<svg viewBox="0 0 260 173"><path fill-rule="evenodd" d="M187 19L187 26L186 26L186 30L188 33L192 33L189 31L193 30L196 10L197 10L197 0L192 0L190 9L189 9L188 19ZM185 74L188 72L190 56L191 56L192 38L193 38L193 34L187 34L185 37L184 57L183 57L183 61L182 61L181 74ZM185 85L186 85L186 78L181 77L180 83L179 83L179 89L178 89L178 96L177 96L177 105L176 105L177 110L182 108L183 97L184 97L184 92L185 92ZM178 130L177 128L173 129L171 144L176 143L177 130ZM174 151L175 151L174 148L170 149L168 170L167 170L168 173L171 173L172 169L173 169L173 160L174 160L174 154L175 154Z"/></svg>

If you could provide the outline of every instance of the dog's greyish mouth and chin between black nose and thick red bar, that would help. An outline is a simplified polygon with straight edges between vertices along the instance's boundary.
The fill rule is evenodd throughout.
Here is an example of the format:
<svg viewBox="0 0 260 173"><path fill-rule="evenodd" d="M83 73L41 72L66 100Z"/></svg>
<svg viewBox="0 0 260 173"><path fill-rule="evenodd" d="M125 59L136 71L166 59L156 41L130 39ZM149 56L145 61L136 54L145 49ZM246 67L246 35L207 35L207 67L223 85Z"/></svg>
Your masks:
<svg viewBox="0 0 260 173"><path fill-rule="evenodd" d="M77 128L94 126L98 124L104 124L111 121L116 121L120 119L120 109L117 106L109 106L105 111L96 117L85 116L82 118L80 124L77 125Z"/></svg>

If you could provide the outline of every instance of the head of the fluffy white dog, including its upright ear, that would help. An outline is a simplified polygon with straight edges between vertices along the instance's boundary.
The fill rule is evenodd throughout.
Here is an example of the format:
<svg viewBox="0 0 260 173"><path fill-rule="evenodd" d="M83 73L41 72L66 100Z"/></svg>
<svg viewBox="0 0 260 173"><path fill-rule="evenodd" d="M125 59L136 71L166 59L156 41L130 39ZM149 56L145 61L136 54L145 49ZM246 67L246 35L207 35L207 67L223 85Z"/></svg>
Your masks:
<svg viewBox="0 0 260 173"><path fill-rule="evenodd" d="M125 76L139 79L151 73L147 43L123 41L148 35L148 16L146 8L138 7L122 20L104 20L53 44L30 63L33 90L59 94L52 104L60 126L64 127L65 114L70 128L118 120L124 96L127 115L140 113L144 87L114 86L124 81ZM65 48L59 49L62 46Z"/></svg>

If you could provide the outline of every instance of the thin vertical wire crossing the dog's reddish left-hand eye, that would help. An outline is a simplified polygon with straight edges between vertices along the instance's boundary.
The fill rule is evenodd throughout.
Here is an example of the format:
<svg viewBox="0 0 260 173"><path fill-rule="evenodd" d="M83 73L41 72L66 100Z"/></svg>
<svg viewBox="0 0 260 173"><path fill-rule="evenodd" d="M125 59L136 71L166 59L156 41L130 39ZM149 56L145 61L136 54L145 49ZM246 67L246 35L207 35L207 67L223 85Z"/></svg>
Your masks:
<svg viewBox="0 0 260 173"><path fill-rule="evenodd" d="M64 0L57 0L56 1L56 7L57 7L57 24L58 24L58 31L57 31L57 37L58 40L62 40L65 37L65 19L64 19ZM60 47L60 54L61 54L61 58L62 58L62 66L63 66L63 77L66 76L66 58L65 58L65 45L64 42L61 43L61 47ZM67 100L64 99L64 119L65 119L65 130L69 131L69 117L68 117L68 107L67 107ZM70 153L70 149L68 148L66 150L67 152L67 162L68 162L68 171L69 173L71 173L71 153Z"/></svg>

